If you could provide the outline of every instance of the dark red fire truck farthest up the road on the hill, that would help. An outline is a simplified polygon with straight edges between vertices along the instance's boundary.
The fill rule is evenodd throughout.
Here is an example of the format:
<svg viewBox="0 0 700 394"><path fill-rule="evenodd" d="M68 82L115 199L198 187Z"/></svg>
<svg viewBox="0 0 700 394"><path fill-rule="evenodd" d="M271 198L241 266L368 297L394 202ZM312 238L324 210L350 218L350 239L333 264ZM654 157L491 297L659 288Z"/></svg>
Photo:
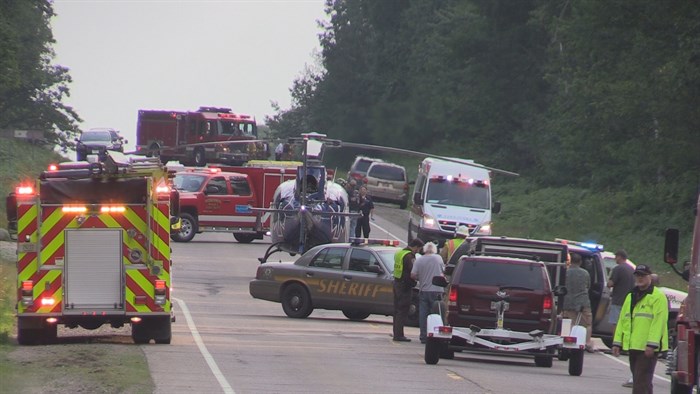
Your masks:
<svg viewBox="0 0 700 394"><path fill-rule="evenodd" d="M200 107L196 111L140 110L136 125L136 151L160 156L163 163L241 165L267 158L266 142L257 141L258 128L250 115L230 108ZM246 142L250 141L250 142Z"/></svg>

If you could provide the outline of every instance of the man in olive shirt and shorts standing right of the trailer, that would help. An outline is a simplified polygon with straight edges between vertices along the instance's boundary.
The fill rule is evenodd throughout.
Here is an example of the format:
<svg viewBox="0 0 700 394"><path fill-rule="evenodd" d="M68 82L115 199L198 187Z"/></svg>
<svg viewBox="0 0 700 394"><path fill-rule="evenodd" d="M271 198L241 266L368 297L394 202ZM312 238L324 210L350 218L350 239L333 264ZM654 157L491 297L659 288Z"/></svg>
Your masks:
<svg viewBox="0 0 700 394"><path fill-rule="evenodd" d="M581 255L573 253L571 265L566 269L566 295L564 296L562 317L571 319L573 324L576 324L578 315L581 314L579 325L586 327L586 351L594 353L595 348L591 342L593 314L591 313L591 299L588 297L590 289L591 277L588 271L581 268Z"/></svg>

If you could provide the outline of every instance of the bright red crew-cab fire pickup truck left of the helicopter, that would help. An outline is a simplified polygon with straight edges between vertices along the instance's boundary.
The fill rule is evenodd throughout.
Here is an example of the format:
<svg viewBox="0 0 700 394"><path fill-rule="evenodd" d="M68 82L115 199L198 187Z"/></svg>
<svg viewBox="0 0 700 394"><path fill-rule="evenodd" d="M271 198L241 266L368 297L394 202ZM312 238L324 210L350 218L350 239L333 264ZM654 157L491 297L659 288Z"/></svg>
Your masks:
<svg viewBox="0 0 700 394"><path fill-rule="evenodd" d="M189 242L203 232L232 233L250 243L270 230L270 213L251 208L270 208L275 190L296 179L299 162L254 160L245 166L186 168L175 175L180 194L180 231L171 237Z"/></svg>

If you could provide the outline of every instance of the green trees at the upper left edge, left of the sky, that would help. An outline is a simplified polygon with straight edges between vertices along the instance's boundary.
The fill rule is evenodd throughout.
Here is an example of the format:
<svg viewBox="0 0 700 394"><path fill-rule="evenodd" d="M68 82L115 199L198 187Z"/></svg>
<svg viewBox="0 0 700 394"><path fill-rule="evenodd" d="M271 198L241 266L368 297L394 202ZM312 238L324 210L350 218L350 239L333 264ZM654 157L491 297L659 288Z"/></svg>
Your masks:
<svg viewBox="0 0 700 394"><path fill-rule="evenodd" d="M0 129L44 130L65 149L79 132L78 114L61 101L68 69L51 64L50 0L0 1Z"/></svg>

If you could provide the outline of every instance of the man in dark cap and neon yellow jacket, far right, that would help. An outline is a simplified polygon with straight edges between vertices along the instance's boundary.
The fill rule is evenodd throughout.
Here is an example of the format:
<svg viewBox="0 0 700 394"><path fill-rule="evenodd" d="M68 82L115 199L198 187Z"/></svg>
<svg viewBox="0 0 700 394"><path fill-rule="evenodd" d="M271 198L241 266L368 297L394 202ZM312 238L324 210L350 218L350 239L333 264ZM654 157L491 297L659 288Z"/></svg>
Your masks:
<svg viewBox="0 0 700 394"><path fill-rule="evenodd" d="M652 284L651 268L634 270L634 288L625 297L615 330L612 353L629 353L633 393L652 393L654 369L660 352L668 351L668 300Z"/></svg>

